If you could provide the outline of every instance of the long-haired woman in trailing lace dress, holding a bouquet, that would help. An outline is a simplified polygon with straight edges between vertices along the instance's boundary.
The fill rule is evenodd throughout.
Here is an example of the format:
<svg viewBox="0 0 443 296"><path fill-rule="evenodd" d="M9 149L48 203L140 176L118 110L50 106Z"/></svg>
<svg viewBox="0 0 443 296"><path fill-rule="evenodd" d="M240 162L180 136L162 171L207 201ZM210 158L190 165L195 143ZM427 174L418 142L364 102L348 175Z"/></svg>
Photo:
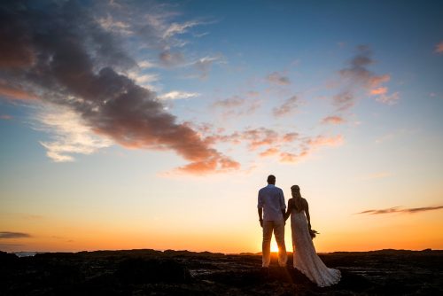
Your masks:
<svg viewBox="0 0 443 296"><path fill-rule="evenodd" d="M311 238L311 218L307 200L302 199L298 185L291 187L292 199L288 200L288 210L284 220L291 215L292 247L294 268L307 276L315 284L325 287L340 281L338 269L328 269L317 256Z"/></svg>

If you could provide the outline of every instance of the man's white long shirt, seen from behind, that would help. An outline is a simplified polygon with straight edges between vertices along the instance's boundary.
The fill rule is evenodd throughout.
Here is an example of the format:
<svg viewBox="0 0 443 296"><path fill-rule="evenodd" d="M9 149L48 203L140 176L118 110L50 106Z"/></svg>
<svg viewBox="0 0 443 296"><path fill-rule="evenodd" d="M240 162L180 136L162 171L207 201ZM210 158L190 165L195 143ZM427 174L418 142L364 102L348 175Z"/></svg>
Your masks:
<svg viewBox="0 0 443 296"><path fill-rule="evenodd" d="M283 221L282 210L286 208L283 191L273 184L261 188L257 207L263 208L264 221Z"/></svg>

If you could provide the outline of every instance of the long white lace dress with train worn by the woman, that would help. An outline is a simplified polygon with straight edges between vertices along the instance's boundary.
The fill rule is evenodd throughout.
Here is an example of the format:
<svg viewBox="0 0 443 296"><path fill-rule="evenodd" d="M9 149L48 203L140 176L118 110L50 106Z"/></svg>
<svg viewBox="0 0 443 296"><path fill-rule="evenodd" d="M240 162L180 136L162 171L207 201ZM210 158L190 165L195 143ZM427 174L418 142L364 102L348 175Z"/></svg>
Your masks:
<svg viewBox="0 0 443 296"><path fill-rule="evenodd" d="M291 211L292 247L294 268L307 276L320 287L337 284L340 281L340 270L328 269L315 252L312 238L307 228L305 211Z"/></svg>

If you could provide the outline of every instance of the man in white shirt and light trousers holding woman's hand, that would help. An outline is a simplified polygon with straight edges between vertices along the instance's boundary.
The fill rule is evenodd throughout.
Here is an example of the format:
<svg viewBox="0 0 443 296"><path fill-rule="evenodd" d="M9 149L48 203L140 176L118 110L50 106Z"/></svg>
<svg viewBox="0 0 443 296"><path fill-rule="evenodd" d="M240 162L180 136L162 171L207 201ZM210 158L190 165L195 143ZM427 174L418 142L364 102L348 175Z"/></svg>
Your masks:
<svg viewBox="0 0 443 296"><path fill-rule="evenodd" d="M287 255L284 245L284 204L283 191L276 187L276 176L268 175L268 186L259 191L259 221L263 228L262 267L268 268L271 261L272 232L278 245L278 265L286 266Z"/></svg>

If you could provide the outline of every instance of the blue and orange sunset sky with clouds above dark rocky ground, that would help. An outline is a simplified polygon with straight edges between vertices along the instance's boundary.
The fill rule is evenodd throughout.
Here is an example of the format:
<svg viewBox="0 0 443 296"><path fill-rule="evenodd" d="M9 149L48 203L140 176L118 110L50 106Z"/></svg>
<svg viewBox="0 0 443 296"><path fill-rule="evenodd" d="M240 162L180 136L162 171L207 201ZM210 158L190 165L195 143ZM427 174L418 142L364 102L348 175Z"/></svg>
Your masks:
<svg viewBox="0 0 443 296"><path fill-rule="evenodd" d="M317 252L443 249L442 9L0 4L0 250L260 252L270 174Z"/></svg>

